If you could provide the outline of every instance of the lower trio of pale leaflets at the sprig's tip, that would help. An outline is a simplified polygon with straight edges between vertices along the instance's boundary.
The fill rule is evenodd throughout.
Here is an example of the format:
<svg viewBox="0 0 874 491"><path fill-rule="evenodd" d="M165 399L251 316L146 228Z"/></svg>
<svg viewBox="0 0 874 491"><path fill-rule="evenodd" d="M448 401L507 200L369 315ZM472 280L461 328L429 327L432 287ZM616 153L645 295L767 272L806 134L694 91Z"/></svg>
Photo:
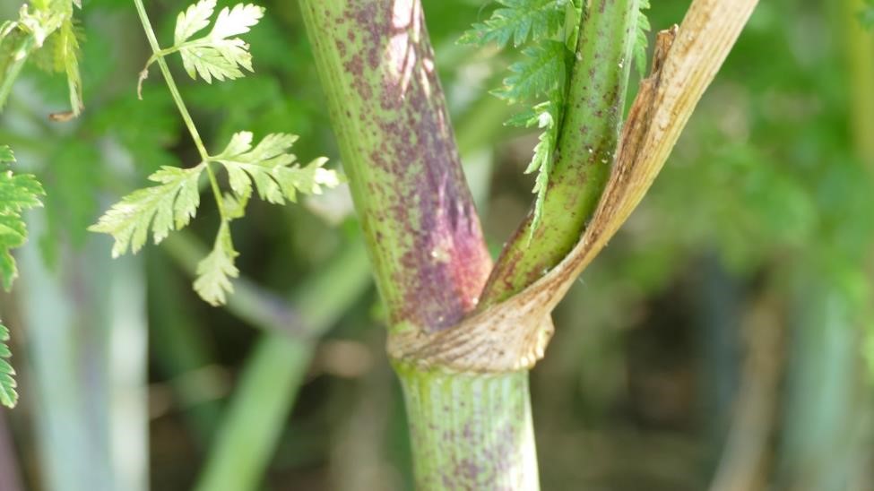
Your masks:
<svg viewBox="0 0 874 491"><path fill-rule="evenodd" d="M195 168L161 168L149 177L160 185L128 194L89 229L115 238L113 257L125 254L128 247L133 253L139 251L150 229L158 244L171 230L186 227L195 217L199 179L212 162L221 164L228 171L232 194L221 198L221 225L212 252L197 265L195 291L213 306L224 304L227 293L233 291L230 281L238 276L234 264L238 253L229 224L244 216L253 183L264 201L279 204L296 201L298 193L319 194L322 186L340 183L335 171L323 168L327 159L315 159L303 168L296 164L295 156L287 151L297 139L292 134L268 134L253 148L251 133L234 134L224 151Z"/></svg>

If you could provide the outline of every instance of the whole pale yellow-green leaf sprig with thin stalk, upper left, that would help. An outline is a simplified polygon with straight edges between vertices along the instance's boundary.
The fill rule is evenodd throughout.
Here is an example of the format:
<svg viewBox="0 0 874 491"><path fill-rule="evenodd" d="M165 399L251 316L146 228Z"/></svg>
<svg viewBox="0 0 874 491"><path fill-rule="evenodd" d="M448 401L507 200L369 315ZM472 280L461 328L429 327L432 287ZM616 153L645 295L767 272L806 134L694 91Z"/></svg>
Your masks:
<svg viewBox="0 0 874 491"><path fill-rule="evenodd" d="M201 0L179 13L172 47L161 49L151 29L142 0L134 0L143 29L152 48L152 56L141 73L142 84L148 68L157 63L167 82L177 108L195 141L201 161L193 168L163 167L149 179L158 185L128 194L113 205L100 221L91 226L115 238L113 256L136 253L146 242L151 228L155 244L168 236L171 230L185 228L195 217L200 204L199 183L205 173L218 206L221 223L212 252L197 265L194 288L213 306L222 305L233 291L231 279L238 276L230 233L230 222L241 218L252 195L253 184L258 196L273 203L295 202L297 194L318 194L322 186L338 185L340 178L333 170L323 168L326 159L315 159L304 167L289 152L297 136L268 134L253 146L249 132L234 134L223 151L210 155L201 140L185 102L169 73L165 57L173 53L182 56L186 72L192 78L236 79L244 75L240 68L252 71L252 57L248 45L237 38L257 24L264 9L253 4L237 4L224 8L218 14L210 32L195 38L195 34L210 24L215 0ZM216 177L217 168L225 169L230 192L222 192Z"/></svg>

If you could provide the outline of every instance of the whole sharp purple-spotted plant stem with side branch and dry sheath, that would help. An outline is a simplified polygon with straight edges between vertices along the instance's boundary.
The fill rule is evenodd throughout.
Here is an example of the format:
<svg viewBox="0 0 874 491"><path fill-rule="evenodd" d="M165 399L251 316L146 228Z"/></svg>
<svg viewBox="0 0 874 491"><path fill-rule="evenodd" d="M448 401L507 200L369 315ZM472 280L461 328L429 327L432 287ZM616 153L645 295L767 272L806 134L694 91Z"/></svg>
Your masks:
<svg viewBox="0 0 874 491"><path fill-rule="evenodd" d="M497 94L524 102L530 109L515 119L546 136L533 164L540 211L489 272L446 103L428 83L437 74L420 2L404 3L416 17L403 26L392 3L300 2L356 210L368 223L422 489L539 488L528 370L549 341L552 308L652 184L757 0L694 0L679 30L660 33L625 125L646 2L592 0L581 22L567 20L576 10L567 1L499 3L464 40L528 43ZM402 34L411 41L393 50ZM368 55L373 63L356 63ZM408 59L398 73L397 60ZM398 102L385 110L385 100ZM429 123L398 131L399 120ZM411 152L411 141L424 151ZM532 233L534 215L541 226Z"/></svg>

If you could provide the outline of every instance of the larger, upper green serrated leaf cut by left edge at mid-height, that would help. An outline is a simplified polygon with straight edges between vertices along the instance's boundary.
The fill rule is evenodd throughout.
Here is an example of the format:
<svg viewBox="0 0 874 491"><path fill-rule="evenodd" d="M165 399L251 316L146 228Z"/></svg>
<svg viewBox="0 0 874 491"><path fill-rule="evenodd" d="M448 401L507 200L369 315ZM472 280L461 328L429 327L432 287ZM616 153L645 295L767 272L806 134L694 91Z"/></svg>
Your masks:
<svg viewBox="0 0 874 491"><path fill-rule="evenodd" d="M0 165L15 161L13 151L0 145ZM0 172L0 280L3 288L12 288L18 276L12 249L27 241L27 228L22 212L42 206L39 196L45 194L36 177L30 174L13 174L6 169Z"/></svg>

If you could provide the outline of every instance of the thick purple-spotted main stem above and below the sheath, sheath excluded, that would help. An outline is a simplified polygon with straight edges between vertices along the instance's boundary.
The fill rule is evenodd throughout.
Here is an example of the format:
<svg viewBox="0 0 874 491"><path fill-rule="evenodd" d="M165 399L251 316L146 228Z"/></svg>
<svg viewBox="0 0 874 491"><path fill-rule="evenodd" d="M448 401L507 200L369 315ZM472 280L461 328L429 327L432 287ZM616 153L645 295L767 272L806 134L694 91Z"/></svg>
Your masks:
<svg viewBox="0 0 874 491"><path fill-rule="evenodd" d="M420 1L300 4L392 330L445 331L477 305L491 262ZM397 371L420 488L537 488L527 373Z"/></svg>

